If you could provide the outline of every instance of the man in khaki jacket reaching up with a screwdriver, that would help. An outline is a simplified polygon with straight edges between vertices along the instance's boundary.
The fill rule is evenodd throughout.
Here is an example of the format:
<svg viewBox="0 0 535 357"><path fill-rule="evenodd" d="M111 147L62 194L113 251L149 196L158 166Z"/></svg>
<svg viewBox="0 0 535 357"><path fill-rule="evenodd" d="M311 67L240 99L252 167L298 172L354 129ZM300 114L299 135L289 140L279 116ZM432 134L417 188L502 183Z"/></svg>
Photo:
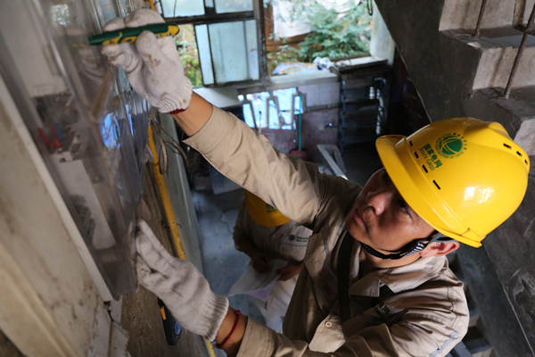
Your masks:
<svg viewBox="0 0 535 357"><path fill-rule="evenodd" d="M161 22L138 10L104 30ZM211 292L144 221L136 235L142 285L184 328L230 356L444 356L465 335L468 309L445 255L481 245L518 207L529 160L495 122L440 120L376 142L384 168L359 187L277 152L234 115L193 94L172 38L144 31L105 46L136 91L169 112L228 178L313 230L284 335Z"/></svg>

